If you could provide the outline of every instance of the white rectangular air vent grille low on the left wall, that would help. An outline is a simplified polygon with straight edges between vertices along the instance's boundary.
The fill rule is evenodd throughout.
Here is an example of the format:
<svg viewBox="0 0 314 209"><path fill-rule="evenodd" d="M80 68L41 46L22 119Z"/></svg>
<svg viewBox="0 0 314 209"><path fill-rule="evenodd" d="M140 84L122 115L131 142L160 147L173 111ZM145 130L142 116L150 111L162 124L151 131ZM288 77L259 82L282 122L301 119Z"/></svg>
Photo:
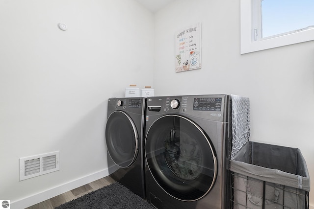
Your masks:
<svg viewBox="0 0 314 209"><path fill-rule="evenodd" d="M60 151L20 158L20 181L60 170Z"/></svg>

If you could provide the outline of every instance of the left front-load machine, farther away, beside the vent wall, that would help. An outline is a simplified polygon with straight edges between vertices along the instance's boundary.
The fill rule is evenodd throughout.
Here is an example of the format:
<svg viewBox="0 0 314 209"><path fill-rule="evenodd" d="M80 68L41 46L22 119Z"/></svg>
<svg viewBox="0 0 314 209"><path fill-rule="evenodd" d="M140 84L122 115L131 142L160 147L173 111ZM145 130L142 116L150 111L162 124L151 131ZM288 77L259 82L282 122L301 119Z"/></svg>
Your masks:
<svg viewBox="0 0 314 209"><path fill-rule="evenodd" d="M105 127L108 155L118 167L110 176L142 198L146 197L145 110L144 97L110 98Z"/></svg>

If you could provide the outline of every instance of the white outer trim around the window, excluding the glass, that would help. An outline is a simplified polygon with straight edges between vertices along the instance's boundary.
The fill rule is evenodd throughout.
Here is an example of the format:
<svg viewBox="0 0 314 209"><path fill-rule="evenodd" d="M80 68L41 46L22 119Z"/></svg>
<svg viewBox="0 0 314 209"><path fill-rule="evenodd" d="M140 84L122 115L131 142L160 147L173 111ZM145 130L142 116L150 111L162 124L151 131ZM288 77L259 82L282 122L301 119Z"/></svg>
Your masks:
<svg viewBox="0 0 314 209"><path fill-rule="evenodd" d="M314 28L254 41L252 0L240 0L241 54L314 40Z"/></svg>

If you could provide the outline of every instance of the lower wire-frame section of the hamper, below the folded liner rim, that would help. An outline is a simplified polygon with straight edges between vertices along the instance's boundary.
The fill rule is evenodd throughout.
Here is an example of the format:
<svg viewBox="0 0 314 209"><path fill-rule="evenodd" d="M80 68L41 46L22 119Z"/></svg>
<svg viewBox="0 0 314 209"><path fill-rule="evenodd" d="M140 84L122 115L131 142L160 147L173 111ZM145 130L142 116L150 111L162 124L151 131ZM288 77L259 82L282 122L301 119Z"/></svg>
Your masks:
<svg viewBox="0 0 314 209"><path fill-rule="evenodd" d="M309 192L233 172L233 209L309 209Z"/></svg>

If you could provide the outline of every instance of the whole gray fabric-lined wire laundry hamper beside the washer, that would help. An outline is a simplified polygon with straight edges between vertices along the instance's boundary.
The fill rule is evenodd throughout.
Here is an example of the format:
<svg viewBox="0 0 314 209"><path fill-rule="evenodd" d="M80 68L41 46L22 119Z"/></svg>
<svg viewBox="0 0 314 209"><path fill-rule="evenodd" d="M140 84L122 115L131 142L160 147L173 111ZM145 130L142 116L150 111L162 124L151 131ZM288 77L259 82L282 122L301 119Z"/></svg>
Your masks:
<svg viewBox="0 0 314 209"><path fill-rule="evenodd" d="M234 209L309 209L310 177L297 148L248 141L230 170Z"/></svg>

